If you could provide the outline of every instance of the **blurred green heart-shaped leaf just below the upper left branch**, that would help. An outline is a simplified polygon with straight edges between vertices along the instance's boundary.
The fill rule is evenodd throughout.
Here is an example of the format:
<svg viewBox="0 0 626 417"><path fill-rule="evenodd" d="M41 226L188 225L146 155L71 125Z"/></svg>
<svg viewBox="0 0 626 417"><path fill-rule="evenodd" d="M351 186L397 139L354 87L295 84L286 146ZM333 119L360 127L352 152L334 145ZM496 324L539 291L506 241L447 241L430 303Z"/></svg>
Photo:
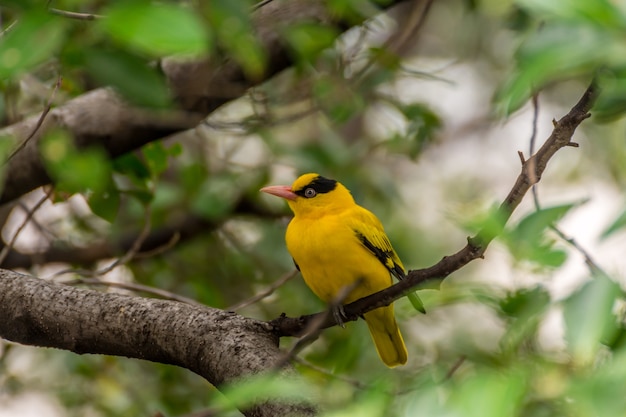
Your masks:
<svg viewBox="0 0 626 417"><path fill-rule="evenodd" d="M76 149L64 132L49 133L41 143L41 153L59 191L98 193L112 181L107 154L97 148Z"/></svg>

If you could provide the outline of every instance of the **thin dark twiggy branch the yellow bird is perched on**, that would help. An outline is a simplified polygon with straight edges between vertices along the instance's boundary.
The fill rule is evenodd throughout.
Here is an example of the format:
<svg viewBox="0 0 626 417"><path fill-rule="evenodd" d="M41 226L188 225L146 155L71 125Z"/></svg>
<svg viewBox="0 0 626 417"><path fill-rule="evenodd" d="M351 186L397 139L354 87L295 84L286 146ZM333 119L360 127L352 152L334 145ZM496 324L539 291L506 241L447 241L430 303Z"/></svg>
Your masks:
<svg viewBox="0 0 626 417"><path fill-rule="evenodd" d="M409 271L406 279L397 284L345 305L344 321L357 320L359 316L368 311L387 306L395 300L415 291L417 287L425 282L436 282L439 284L454 271L459 270L477 258L482 258L489 243L504 229L506 222L521 203L526 193L534 184L541 180L541 176L554 154L564 147L578 147L577 143L572 142L572 136L576 128L591 116L589 111L597 95L598 88L595 83L592 82L569 113L560 120L553 122L554 129L552 130L552 134L535 154L525 159L523 154L520 153L522 170L511 188L511 191L500 204L498 209L499 216L497 217L500 220L500 227L497 231L494 232L492 228L489 230L480 230L475 236L467 239L467 245L465 245L465 247L450 256L443 257L443 259L435 265L424 269ZM296 318L281 316L271 320L269 323L273 326L274 332L278 336L300 336L310 328L309 323L311 323L311 321L317 322L320 320L319 318L321 316L324 316L324 320L321 324L318 324L320 329L338 324L332 315L325 314L324 312Z"/></svg>

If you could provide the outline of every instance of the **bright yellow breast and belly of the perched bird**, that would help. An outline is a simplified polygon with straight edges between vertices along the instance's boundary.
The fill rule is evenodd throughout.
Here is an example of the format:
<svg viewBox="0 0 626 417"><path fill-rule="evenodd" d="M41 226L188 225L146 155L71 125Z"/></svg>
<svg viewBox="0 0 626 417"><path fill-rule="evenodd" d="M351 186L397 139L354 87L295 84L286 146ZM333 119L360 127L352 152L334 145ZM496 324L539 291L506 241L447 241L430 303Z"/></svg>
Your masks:
<svg viewBox="0 0 626 417"><path fill-rule="evenodd" d="M351 215L346 210L319 217L296 216L287 228L287 249L306 284L326 302L334 301L344 288L354 287L341 300L349 303L392 283L387 268L349 226Z"/></svg>

